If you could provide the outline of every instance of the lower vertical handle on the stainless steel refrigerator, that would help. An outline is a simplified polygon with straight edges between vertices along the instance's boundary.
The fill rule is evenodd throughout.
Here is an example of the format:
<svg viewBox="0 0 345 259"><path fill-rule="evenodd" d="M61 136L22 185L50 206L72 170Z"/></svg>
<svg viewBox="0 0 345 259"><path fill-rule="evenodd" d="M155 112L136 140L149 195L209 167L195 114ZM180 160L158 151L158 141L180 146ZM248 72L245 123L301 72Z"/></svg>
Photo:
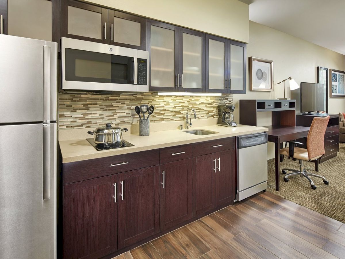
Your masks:
<svg viewBox="0 0 345 259"><path fill-rule="evenodd" d="M43 200L50 199L50 123L43 123Z"/></svg>

